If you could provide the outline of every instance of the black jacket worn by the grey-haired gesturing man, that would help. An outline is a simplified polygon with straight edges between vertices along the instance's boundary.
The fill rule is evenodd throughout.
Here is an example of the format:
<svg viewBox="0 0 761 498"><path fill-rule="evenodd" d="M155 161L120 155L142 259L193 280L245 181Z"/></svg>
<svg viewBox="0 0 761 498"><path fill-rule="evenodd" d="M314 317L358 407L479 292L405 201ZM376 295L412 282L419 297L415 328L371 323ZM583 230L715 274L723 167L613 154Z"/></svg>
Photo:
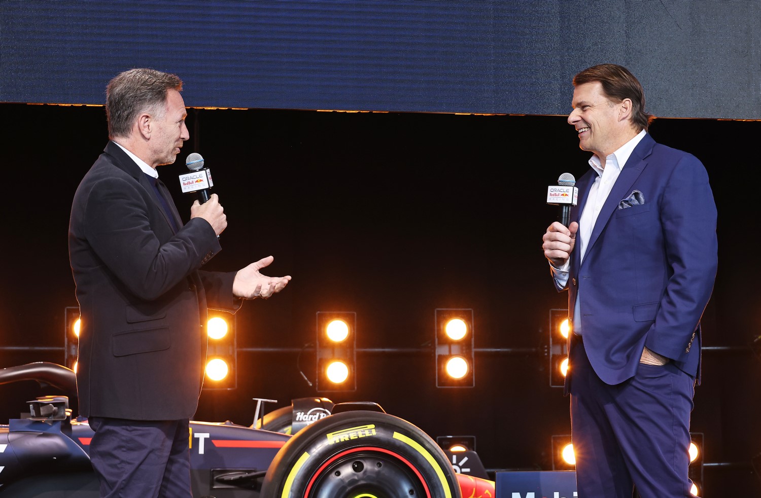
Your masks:
<svg viewBox="0 0 761 498"><path fill-rule="evenodd" d="M177 233L145 173L109 142L74 196L69 258L81 312L77 387L86 417L177 420L196 411L207 306L234 311L234 273L199 268L221 248L202 218Z"/></svg>

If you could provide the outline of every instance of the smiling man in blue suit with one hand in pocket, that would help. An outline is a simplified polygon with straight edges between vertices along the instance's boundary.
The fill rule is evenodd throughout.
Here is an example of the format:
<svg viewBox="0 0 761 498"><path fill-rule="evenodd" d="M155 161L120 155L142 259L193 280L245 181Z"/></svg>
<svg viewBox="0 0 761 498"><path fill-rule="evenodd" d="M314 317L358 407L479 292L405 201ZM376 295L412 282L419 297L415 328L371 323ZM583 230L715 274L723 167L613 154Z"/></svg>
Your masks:
<svg viewBox="0 0 761 498"><path fill-rule="evenodd" d="M696 157L648 135L642 87L603 64L574 78L568 122L594 153L568 227L543 236L568 289L579 496L691 496L699 321L717 266L716 208Z"/></svg>

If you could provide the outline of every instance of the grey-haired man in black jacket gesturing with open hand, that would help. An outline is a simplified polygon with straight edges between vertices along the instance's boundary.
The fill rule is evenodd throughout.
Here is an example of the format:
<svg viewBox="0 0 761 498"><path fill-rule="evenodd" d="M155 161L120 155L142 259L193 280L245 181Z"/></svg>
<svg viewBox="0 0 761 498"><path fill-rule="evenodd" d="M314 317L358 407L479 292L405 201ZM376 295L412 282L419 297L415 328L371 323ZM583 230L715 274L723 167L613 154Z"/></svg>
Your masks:
<svg viewBox="0 0 761 498"><path fill-rule="evenodd" d="M150 69L110 82L110 141L72 205L79 409L95 430L101 496L190 496L207 307L234 312L291 279L260 273L272 256L230 273L199 270L221 249L224 210L214 194L195 201L183 224L156 173L189 138L181 89L177 76Z"/></svg>

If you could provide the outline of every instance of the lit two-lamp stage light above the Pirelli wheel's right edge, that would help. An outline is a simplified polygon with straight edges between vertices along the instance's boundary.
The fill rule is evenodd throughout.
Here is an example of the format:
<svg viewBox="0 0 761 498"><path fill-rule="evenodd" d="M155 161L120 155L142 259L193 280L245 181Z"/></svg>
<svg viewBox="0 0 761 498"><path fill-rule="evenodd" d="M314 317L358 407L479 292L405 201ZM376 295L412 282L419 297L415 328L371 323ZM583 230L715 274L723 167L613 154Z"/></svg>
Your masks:
<svg viewBox="0 0 761 498"><path fill-rule="evenodd" d="M436 387L476 385L473 309L435 309Z"/></svg>

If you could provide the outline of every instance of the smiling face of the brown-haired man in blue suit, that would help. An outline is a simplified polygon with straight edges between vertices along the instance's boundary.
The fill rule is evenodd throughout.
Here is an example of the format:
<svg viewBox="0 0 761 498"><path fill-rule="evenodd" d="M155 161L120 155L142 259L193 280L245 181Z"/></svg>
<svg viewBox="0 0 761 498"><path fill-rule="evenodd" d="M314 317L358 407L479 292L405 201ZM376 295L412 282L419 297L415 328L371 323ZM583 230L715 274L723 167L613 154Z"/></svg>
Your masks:
<svg viewBox="0 0 761 498"><path fill-rule="evenodd" d="M583 83L573 92L568 123L578 132L578 146L605 158L626 143L626 123L619 119L620 104L603 94L599 81Z"/></svg>

